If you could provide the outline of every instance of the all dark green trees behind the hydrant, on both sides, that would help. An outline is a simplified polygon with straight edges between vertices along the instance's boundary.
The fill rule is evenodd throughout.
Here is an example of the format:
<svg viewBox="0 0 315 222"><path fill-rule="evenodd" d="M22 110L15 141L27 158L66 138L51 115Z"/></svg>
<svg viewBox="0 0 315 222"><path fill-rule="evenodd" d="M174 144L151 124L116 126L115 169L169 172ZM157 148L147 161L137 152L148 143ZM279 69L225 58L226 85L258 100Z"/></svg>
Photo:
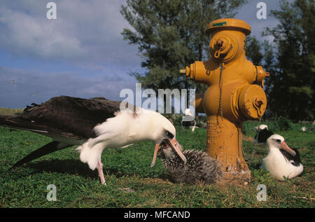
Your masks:
<svg viewBox="0 0 315 222"><path fill-rule="evenodd" d="M233 18L246 0L127 0L120 13L133 29L123 37L138 46L145 73L132 72L146 88L197 88L179 69L209 57L209 36L205 29L218 18ZM266 80L266 116L292 120L314 120L315 95L315 4L314 0L279 1L271 11L279 21L265 27L260 42L248 36L246 57L262 65L271 76Z"/></svg>

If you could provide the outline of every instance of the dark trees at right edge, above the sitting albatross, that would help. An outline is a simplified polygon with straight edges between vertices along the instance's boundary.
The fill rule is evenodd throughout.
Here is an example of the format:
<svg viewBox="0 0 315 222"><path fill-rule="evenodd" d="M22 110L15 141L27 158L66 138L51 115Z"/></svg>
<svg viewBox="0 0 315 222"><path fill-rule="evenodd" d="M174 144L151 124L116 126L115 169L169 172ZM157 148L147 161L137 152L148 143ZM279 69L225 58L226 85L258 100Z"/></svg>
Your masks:
<svg viewBox="0 0 315 222"><path fill-rule="evenodd" d="M270 64L268 106L274 116L314 120L315 116L315 4L313 0L280 1L271 15L279 20L265 29L274 36L276 61Z"/></svg>

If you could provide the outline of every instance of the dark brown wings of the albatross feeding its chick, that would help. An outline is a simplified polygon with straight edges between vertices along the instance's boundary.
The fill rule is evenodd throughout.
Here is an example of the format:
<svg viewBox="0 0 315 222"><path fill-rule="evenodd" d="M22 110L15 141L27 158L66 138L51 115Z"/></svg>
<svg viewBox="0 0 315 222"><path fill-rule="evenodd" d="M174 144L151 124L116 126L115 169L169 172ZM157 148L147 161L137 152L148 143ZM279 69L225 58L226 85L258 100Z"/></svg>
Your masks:
<svg viewBox="0 0 315 222"><path fill-rule="evenodd" d="M53 97L41 105L27 106L16 116L0 116L2 126L29 130L55 140L29 153L13 167L62 148L78 145L78 141L82 139L95 137L93 128L107 118L115 116L114 113L119 109L120 102L103 97L81 99L61 96Z"/></svg>

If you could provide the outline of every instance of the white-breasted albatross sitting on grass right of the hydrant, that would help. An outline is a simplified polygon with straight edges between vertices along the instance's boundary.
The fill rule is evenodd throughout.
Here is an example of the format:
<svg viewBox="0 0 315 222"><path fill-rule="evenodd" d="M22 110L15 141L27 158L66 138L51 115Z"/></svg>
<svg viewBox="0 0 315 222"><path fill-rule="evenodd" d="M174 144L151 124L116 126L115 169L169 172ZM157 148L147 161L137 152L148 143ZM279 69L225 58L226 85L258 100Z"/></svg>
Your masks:
<svg viewBox="0 0 315 222"><path fill-rule="evenodd" d="M266 169L279 181L291 179L303 172L300 153L296 148L291 149L284 138L274 134L267 139L268 155L262 160L260 168Z"/></svg>

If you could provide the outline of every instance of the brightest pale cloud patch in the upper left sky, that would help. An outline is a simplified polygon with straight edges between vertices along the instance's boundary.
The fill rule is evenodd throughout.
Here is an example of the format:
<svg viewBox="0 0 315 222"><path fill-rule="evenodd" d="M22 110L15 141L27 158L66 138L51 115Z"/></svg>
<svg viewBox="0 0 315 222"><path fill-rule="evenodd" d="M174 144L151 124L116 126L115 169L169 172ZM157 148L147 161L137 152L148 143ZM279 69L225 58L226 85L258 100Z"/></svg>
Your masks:
<svg viewBox="0 0 315 222"><path fill-rule="evenodd" d="M1 45L15 54L66 59L84 53L76 36L55 32L66 29L66 24L59 20L47 25L45 19L2 9L0 22L6 24L6 32L0 34Z"/></svg>

